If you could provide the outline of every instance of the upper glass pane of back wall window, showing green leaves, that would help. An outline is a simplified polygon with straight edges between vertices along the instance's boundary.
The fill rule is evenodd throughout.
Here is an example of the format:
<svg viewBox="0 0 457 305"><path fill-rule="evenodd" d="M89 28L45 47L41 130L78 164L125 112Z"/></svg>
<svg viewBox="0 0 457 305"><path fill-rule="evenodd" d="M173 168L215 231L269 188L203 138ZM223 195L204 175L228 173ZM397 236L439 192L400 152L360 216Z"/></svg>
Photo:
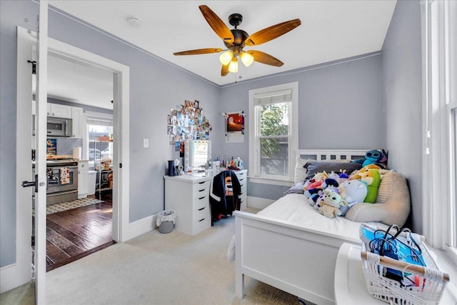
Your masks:
<svg viewBox="0 0 457 305"><path fill-rule="evenodd" d="M281 136L288 134L288 103L261 106L261 136Z"/></svg>

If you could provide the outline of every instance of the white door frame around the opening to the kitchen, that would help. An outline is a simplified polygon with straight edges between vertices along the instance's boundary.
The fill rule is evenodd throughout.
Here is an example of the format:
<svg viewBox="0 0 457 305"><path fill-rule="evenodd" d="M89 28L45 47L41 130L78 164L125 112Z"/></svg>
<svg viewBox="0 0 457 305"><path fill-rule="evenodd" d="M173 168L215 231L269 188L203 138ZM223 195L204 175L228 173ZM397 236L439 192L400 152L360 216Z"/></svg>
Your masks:
<svg viewBox="0 0 457 305"><path fill-rule="evenodd" d="M34 38L35 37L35 38ZM29 46L36 42L36 33L17 26L17 96L16 96L16 113L31 114L31 92L26 92L24 88L31 88L31 65L27 60L31 59L31 49ZM23 44L20 39L32 41ZM141 226L139 231L137 226L129 224L129 132L130 132L130 111L129 111L129 66L120 64L103 56L93 54L89 51L76 48L65 44L56 39L48 39L48 50L53 56L61 56L71 60L78 60L87 64L107 69L114 74L114 160L113 160L113 239L117 242L124 242L134 236L144 233L145 226ZM49 54L48 53L48 54ZM49 56L49 55L48 55ZM20 102L19 102L20 101ZM27 110L29 109L29 111ZM45 119L46 116L44 116ZM39 124L39 122L36 122ZM16 135L21 134L24 129L30 130L31 120L16 120ZM27 144L24 147L24 144ZM4 266L0 269L0 290L1 292L9 291L26 284L31 280L31 188L29 189L29 198L24 202L23 198L18 199L20 193L17 189L22 189L21 181L31 181L31 170L26 166L24 171L18 160L30 158L31 141L16 141L16 260L13 264ZM28 147L28 148L27 148ZM24 149L26 151L24 151ZM20 151L23 154L20 155ZM25 155L24 155L25 154ZM20 155L20 157L19 157ZM122 164L120 168L119 164ZM18 174L18 171L20 174ZM151 228L152 229L152 228ZM41 259L42 260L42 259ZM46 264L46 261L41 262Z"/></svg>

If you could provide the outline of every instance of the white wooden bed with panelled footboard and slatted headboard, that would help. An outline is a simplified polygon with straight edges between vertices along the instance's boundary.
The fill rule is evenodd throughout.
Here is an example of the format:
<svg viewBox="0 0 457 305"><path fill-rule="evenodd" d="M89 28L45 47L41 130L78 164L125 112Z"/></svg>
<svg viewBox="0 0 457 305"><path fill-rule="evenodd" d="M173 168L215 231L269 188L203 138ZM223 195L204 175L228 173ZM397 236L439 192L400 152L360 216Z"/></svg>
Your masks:
<svg viewBox="0 0 457 305"><path fill-rule="evenodd" d="M316 156L317 160L358 159L366 151L299 150L298 155ZM316 304L334 304L338 249L343 243L361 244L359 222L343 217L328 219L313 209L302 194L283 196L258 214L233 214L236 296L243 298L245 294L246 275Z"/></svg>

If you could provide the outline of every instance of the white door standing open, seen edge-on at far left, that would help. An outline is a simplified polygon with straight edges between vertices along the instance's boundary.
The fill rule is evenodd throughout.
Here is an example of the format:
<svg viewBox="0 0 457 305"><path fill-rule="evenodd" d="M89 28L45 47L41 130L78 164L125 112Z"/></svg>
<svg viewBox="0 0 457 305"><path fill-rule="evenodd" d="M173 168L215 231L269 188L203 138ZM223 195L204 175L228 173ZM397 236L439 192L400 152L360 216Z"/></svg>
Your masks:
<svg viewBox="0 0 457 305"><path fill-rule="evenodd" d="M35 296L46 304L46 104L48 101L48 2L39 3L36 69L36 156L38 192L35 194Z"/></svg>

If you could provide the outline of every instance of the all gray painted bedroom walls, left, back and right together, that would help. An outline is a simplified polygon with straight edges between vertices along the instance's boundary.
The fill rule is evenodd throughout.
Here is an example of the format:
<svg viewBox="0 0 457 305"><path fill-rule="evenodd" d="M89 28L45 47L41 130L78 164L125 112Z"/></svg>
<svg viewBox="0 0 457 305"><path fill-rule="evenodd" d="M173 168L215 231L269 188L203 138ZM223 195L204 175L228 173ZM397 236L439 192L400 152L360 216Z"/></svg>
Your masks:
<svg viewBox="0 0 457 305"><path fill-rule="evenodd" d="M0 267L14 263L16 255L16 26L26 27L24 18L35 20L37 11L31 1L0 1ZM49 36L130 66L130 221L163 209L166 160L178 156L166 136L171 108L184 99L199 100L213 124L213 156L240 156L248 166L248 130L243 144L226 144L220 112L248 113L248 90L298 81L299 148L386 147L391 168L409 181L413 229L421 232L421 156L409 152L421 151L419 13L418 1L398 2L382 56L371 54L222 88L55 11L49 12ZM328 124L323 126L322 121ZM142 148L143 138L150 139L149 149ZM283 191L263 184L249 189L249 196L268 199Z"/></svg>

